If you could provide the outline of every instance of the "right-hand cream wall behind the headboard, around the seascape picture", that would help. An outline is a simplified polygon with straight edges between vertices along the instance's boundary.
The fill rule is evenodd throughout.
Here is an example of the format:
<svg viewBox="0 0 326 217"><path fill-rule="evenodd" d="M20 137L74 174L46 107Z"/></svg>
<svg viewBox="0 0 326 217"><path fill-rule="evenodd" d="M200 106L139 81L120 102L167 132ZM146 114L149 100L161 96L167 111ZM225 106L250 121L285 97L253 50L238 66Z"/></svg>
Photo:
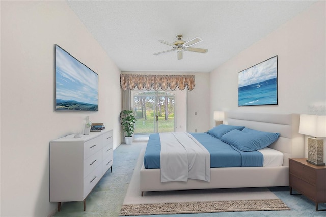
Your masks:
<svg viewBox="0 0 326 217"><path fill-rule="evenodd" d="M278 105L238 107L238 72L275 55ZM326 115L325 84L326 2L320 1L210 73L210 124L213 111Z"/></svg>

